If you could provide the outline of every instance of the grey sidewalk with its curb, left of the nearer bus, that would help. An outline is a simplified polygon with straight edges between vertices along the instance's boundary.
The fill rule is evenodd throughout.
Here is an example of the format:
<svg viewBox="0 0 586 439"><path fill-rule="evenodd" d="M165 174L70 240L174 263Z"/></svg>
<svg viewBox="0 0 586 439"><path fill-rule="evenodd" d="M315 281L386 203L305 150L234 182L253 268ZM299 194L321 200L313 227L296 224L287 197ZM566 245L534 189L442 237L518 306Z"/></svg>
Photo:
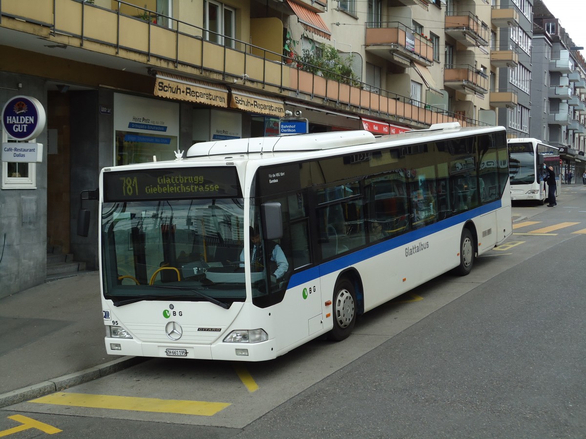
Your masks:
<svg viewBox="0 0 586 439"><path fill-rule="evenodd" d="M106 355L104 335L98 272L0 299L0 407L142 361Z"/></svg>

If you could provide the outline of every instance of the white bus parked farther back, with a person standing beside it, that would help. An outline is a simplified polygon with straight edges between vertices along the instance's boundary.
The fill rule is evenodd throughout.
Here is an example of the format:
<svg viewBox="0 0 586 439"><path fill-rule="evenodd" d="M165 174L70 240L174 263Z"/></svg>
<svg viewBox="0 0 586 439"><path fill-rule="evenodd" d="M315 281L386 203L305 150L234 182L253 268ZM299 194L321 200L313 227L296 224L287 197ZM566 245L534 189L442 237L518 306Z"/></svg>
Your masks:
<svg viewBox="0 0 586 439"><path fill-rule="evenodd" d="M545 204L547 185L543 181L544 165L553 166L558 182L560 152L538 139L509 139L509 177L513 201L533 200ZM558 183L558 193L560 184Z"/></svg>

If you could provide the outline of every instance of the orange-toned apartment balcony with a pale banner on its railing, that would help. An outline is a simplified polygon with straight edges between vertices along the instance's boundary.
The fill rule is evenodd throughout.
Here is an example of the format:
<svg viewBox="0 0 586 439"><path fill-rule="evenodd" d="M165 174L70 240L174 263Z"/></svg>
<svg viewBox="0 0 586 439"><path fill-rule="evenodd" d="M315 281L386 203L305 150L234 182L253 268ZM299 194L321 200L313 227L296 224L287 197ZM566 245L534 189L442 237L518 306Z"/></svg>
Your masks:
<svg viewBox="0 0 586 439"><path fill-rule="evenodd" d="M425 35L415 33L399 22L366 23L366 52L409 67L411 61L425 66L434 63L434 46Z"/></svg>

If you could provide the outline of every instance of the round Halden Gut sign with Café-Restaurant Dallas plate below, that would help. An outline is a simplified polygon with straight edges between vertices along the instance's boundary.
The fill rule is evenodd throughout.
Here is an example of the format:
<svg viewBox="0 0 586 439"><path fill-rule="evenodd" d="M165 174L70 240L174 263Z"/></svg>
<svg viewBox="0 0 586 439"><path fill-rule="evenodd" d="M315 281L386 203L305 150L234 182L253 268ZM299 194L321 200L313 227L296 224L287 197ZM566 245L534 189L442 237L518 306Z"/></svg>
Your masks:
<svg viewBox="0 0 586 439"><path fill-rule="evenodd" d="M2 143L3 162L41 162L43 144L27 142L45 129L45 108L30 96L15 96L2 108L2 126L17 142Z"/></svg>

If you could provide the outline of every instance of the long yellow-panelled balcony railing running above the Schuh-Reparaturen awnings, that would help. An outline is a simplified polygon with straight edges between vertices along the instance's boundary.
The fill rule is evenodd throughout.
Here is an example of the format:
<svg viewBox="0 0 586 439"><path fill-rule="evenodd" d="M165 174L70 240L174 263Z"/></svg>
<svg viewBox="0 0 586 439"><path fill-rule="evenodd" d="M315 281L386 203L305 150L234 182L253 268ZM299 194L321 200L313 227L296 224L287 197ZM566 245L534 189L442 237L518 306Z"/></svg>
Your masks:
<svg viewBox="0 0 586 439"><path fill-rule="evenodd" d="M370 85L352 78L338 75L338 80L326 79L304 70L311 66L281 53L171 16L123 1L115 1L113 6L117 9L81 0L4 1L0 2L0 14L4 28L28 32L52 44L83 47L88 53L136 61L145 67L173 69L174 73L220 83L229 88L235 80L239 80L239 86L278 97L290 99L295 95L300 103L318 102L336 108L346 107L349 112L377 115L391 122L413 126L456 121L453 112L428 105L425 108L425 104L413 102L394 92L381 89L370 91ZM124 13L125 8L138 11L138 16ZM142 18L144 15L147 19ZM157 19L152 20L152 16ZM23 22L28 28L23 26ZM430 44L422 42L421 46L427 50ZM426 56L431 59L431 55ZM76 80L88 86L101 84L89 80L85 83L80 76L76 76ZM459 115L457 120L464 126L486 125Z"/></svg>

